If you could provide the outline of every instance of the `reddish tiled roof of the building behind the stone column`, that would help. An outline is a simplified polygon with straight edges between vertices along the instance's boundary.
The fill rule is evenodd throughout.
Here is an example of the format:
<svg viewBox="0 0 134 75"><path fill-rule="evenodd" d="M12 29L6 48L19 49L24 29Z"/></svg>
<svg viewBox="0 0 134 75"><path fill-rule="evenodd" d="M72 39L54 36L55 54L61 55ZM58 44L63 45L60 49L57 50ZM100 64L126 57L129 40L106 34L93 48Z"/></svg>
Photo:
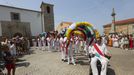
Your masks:
<svg viewBox="0 0 134 75"><path fill-rule="evenodd" d="M132 24L134 23L134 18L126 19L126 20L120 20L120 21L115 21L115 25L123 25L123 24ZM109 27L111 26L112 23L106 24L103 27Z"/></svg>

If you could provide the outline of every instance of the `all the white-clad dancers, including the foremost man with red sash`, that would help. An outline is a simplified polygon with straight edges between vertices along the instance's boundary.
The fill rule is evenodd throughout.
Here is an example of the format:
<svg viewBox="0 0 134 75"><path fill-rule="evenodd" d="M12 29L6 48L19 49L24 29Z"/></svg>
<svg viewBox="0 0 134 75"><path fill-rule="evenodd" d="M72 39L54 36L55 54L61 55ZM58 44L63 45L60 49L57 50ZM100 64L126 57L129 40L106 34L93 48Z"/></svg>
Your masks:
<svg viewBox="0 0 134 75"><path fill-rule="evenodd" d="M92 39L93 42L89 45L88 40L84 40L81 36L74 35L70 39L64 35L54 36L49 35L46 38L44 36L38 37L37 40L33 39L34 46L38 46L40 50L59 51L61 52L61 60L67 62L67 64L76 65L77 60L75 54L84 51L85 55L90 57L90 66L93 75L98 75L97 61L101 62L101 75L106 75L107 64L111 57L105 42L99 37L98 39ZM38 44L38 45L37 45Z"/></svg>

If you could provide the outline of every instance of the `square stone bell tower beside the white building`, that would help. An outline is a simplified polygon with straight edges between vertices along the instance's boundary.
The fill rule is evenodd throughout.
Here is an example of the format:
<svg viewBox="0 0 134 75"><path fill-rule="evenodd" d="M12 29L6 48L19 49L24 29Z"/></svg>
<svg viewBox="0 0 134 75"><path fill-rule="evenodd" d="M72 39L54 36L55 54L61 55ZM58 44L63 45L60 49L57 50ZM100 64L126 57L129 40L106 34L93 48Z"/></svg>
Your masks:
<svg viewBox="0 0 134 75"><path fill-rule="evenodd" d="M41 21L42 21L42 32L49 32L54 30L54 11L52 4L44 3L41 4Z"/></svg>

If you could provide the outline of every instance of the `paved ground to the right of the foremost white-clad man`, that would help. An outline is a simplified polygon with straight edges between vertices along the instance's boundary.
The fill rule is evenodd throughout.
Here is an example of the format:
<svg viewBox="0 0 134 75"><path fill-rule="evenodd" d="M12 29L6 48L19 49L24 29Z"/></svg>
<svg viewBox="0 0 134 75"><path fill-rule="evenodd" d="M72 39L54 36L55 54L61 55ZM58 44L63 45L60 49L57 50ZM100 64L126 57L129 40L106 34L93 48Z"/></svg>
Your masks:
<svg viewBox="0 0 134 75"><path fill-rule="evenodd" d="M134 50L108 49L112 53L110 65L115 75L134 75Z"/></svg>

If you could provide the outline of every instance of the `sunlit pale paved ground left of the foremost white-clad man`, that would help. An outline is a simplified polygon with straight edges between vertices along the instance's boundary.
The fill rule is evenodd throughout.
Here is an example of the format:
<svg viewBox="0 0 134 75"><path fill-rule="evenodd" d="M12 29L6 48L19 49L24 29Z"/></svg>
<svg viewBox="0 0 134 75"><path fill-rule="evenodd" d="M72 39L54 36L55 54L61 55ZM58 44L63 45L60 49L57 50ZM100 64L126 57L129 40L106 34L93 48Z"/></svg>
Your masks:
<svg viewBox="0 0 134 75"><path fill-rule="evenodd" d="M19 62L22 66L16 70L16 75L88 75L89 67L83 65L68 65L62 62L59 52L35 50L34 54L26 55ZM86 60L88 63L88 60ZM25 67L26 63L30 63Z"/></svg>

